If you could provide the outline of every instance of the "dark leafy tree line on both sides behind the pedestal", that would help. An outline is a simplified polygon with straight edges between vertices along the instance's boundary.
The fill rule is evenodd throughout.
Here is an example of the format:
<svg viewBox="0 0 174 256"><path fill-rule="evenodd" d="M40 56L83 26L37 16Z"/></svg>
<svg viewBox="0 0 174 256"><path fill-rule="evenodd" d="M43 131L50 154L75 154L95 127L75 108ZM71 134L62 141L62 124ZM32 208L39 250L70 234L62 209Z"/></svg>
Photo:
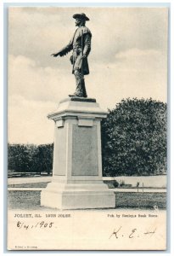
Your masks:
<svg viewBox="0 0 174 256"><path fill-rule="evenodd" d="M126 99L101 123L104 176L166 173L167 106L152 99ZM53 169L53 143L8 144L8 170Z"/></svg>

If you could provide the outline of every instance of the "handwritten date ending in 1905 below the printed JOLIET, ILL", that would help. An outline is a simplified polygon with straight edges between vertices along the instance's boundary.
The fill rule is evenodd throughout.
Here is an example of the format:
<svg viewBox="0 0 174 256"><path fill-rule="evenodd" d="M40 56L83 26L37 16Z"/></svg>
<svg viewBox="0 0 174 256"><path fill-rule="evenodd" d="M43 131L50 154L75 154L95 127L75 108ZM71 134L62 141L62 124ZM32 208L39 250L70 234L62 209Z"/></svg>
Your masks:
<svg viewBox="0 0 174 256"><path fill-rule="evenodd" d="M45 222L45 221L40 221L37 222L36 224L26 224L25 222L20 222L18 221L16 224L18 229L24 229L24 230L29 230L29 229L52 229L54 226L53 222Z"/></svg>

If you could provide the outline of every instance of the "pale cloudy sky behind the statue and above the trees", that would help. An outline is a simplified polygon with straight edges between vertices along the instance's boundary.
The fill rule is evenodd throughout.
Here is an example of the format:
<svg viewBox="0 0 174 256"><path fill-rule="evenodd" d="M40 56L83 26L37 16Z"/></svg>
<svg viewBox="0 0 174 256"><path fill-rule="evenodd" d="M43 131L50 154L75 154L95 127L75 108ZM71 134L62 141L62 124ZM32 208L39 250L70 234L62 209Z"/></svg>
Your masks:
<svg viewBox="0 0 174 256"><path fill-rule="evenodd" d="M50 55L72 38L72 15L85 13L93 34L87 95L102 108L127 97L166 102L166 8L9 8L8 142L53 143L47 115L73 93L70 54Z"/></svg>

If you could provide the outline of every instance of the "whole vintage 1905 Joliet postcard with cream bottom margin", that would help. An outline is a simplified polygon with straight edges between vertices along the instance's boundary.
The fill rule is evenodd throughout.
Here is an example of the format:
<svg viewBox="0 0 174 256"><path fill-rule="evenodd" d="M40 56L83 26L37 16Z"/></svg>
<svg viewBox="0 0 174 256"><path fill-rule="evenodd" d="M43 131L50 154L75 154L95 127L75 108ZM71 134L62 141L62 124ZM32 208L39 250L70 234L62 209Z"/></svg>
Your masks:
<svg viewBox="0 0 174 256"><path fill-rule="evenodd" d="M168 11L8 8L8 250L166 250Z"/></svg>

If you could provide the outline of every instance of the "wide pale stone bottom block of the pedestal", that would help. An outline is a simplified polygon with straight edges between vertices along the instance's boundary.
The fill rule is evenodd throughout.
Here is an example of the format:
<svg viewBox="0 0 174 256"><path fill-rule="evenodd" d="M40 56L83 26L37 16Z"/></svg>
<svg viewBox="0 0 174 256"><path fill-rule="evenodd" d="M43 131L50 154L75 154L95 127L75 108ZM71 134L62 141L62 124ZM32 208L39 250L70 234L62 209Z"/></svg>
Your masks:
<svg viewBox="0 0 174 256"><path fill-rule="evenodd" d="M115 193L104 183L49 183L42 190L41 206L60 210L115 208Z"/></svg>

